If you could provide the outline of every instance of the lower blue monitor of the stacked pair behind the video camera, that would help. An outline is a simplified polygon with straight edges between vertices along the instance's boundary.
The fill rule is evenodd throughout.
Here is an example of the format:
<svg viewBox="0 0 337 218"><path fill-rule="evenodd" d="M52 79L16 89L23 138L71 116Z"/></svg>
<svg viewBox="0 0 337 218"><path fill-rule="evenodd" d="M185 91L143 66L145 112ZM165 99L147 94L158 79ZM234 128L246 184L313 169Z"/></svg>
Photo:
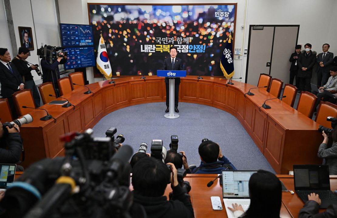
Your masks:
<svg viewBox="0 0 337 218"><path fill-rule="evenodd" d="M63 51L68 52L67 62L64 64L66 70L96 65L94 47L68 47Z"/></svg>

